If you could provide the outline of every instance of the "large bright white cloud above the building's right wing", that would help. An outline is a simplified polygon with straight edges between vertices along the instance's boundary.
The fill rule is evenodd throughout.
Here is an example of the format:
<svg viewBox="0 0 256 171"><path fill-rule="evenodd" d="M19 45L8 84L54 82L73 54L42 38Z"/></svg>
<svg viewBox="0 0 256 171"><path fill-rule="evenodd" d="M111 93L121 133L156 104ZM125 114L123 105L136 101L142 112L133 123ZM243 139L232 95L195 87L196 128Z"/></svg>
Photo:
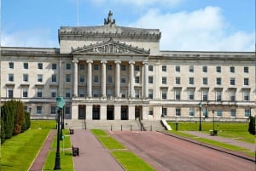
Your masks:
<svg viewBox="0 0 256 171"><path fill-rule="evenodd" d="M150 9L131 26L159 28L161 50L253 51L255 32L230 31L221 9L160 14Z"/></svg>

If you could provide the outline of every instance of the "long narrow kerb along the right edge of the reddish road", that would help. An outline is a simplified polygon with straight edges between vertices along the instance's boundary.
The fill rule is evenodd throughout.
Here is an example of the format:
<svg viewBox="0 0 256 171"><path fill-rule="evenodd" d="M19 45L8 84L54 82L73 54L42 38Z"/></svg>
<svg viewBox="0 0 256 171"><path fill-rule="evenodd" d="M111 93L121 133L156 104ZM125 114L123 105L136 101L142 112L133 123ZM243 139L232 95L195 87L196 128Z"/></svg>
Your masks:
<svg viewBox="0 0 256 171"><path fill-rule="evenodd" d="M196 145L202 145L202 146L205 146L205 147L210 148L212 150L221 151L221 152L224 152L226 154L230 154L230 155L233 155L233 156L236 156L236 157L241 157L241 158L243 158L245 160L248 160L248 161L251 161L251 162L256 162L254 157L249 157L249 156L244 155L240 152L230 151L228 149L224 149L224 148L217 147L217 146L214 146L214 145L208 145L207 143L198 142L196 140L191 140L191 139L188 139L188 138L184 138L184 137L178 136L176 134L171 134L171 133L166 133L166 132L161 132L161 131L157 131L157 132L160 133L160 134L166 134L166 135L175 137L175 138L180 139L180 140L186 140L186 141L189 141L189 142L194 143Z"/></svg>

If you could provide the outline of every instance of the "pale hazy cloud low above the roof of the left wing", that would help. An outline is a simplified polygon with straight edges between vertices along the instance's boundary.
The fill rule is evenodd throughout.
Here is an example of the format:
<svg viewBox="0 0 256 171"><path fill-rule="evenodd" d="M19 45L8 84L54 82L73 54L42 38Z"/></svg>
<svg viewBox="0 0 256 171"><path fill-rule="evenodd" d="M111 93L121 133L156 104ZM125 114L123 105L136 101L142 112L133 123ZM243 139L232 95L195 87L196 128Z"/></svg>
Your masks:
<svg viewBox="0 0 256 171"><path fill-rule="evenodd" d="M56 36L55 36L56 37ZM50 32L45 29L16 31L1 34L1 46L34 47L34 48L57 48L58 40L50 37Z"/></svg>

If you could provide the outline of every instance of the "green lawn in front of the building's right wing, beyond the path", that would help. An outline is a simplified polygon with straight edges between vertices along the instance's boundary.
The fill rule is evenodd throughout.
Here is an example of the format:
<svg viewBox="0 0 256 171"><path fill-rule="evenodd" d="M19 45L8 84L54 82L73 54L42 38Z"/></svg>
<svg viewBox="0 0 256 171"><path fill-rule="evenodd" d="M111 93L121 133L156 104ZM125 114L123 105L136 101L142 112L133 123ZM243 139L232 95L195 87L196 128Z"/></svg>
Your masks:
<svg viewBox="0 0 256 171"><path fill-rule="evenodd" d="M175 129L175 123L169 123L172 129ZM202 132L209 134L213 129L212 123L201 123ZM214 128L218 130L218 136L233 138L236 140L255 143L255 136L249 134L248 123L214 123ZM199 123L179 123L178 131L198 131Z"/></svg>

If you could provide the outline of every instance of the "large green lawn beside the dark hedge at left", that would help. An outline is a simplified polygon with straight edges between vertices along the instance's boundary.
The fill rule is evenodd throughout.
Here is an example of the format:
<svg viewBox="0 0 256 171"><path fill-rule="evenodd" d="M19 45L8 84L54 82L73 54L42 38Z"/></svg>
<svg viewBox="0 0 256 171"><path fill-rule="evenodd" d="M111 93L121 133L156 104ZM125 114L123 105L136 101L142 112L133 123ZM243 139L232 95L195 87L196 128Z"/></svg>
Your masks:
<svg viewBox="0 0 256 171"><path fill-rule="evenodd" d="M25 171L44 144L49 129L28 129L2 145L1 171Z"/></svg>

